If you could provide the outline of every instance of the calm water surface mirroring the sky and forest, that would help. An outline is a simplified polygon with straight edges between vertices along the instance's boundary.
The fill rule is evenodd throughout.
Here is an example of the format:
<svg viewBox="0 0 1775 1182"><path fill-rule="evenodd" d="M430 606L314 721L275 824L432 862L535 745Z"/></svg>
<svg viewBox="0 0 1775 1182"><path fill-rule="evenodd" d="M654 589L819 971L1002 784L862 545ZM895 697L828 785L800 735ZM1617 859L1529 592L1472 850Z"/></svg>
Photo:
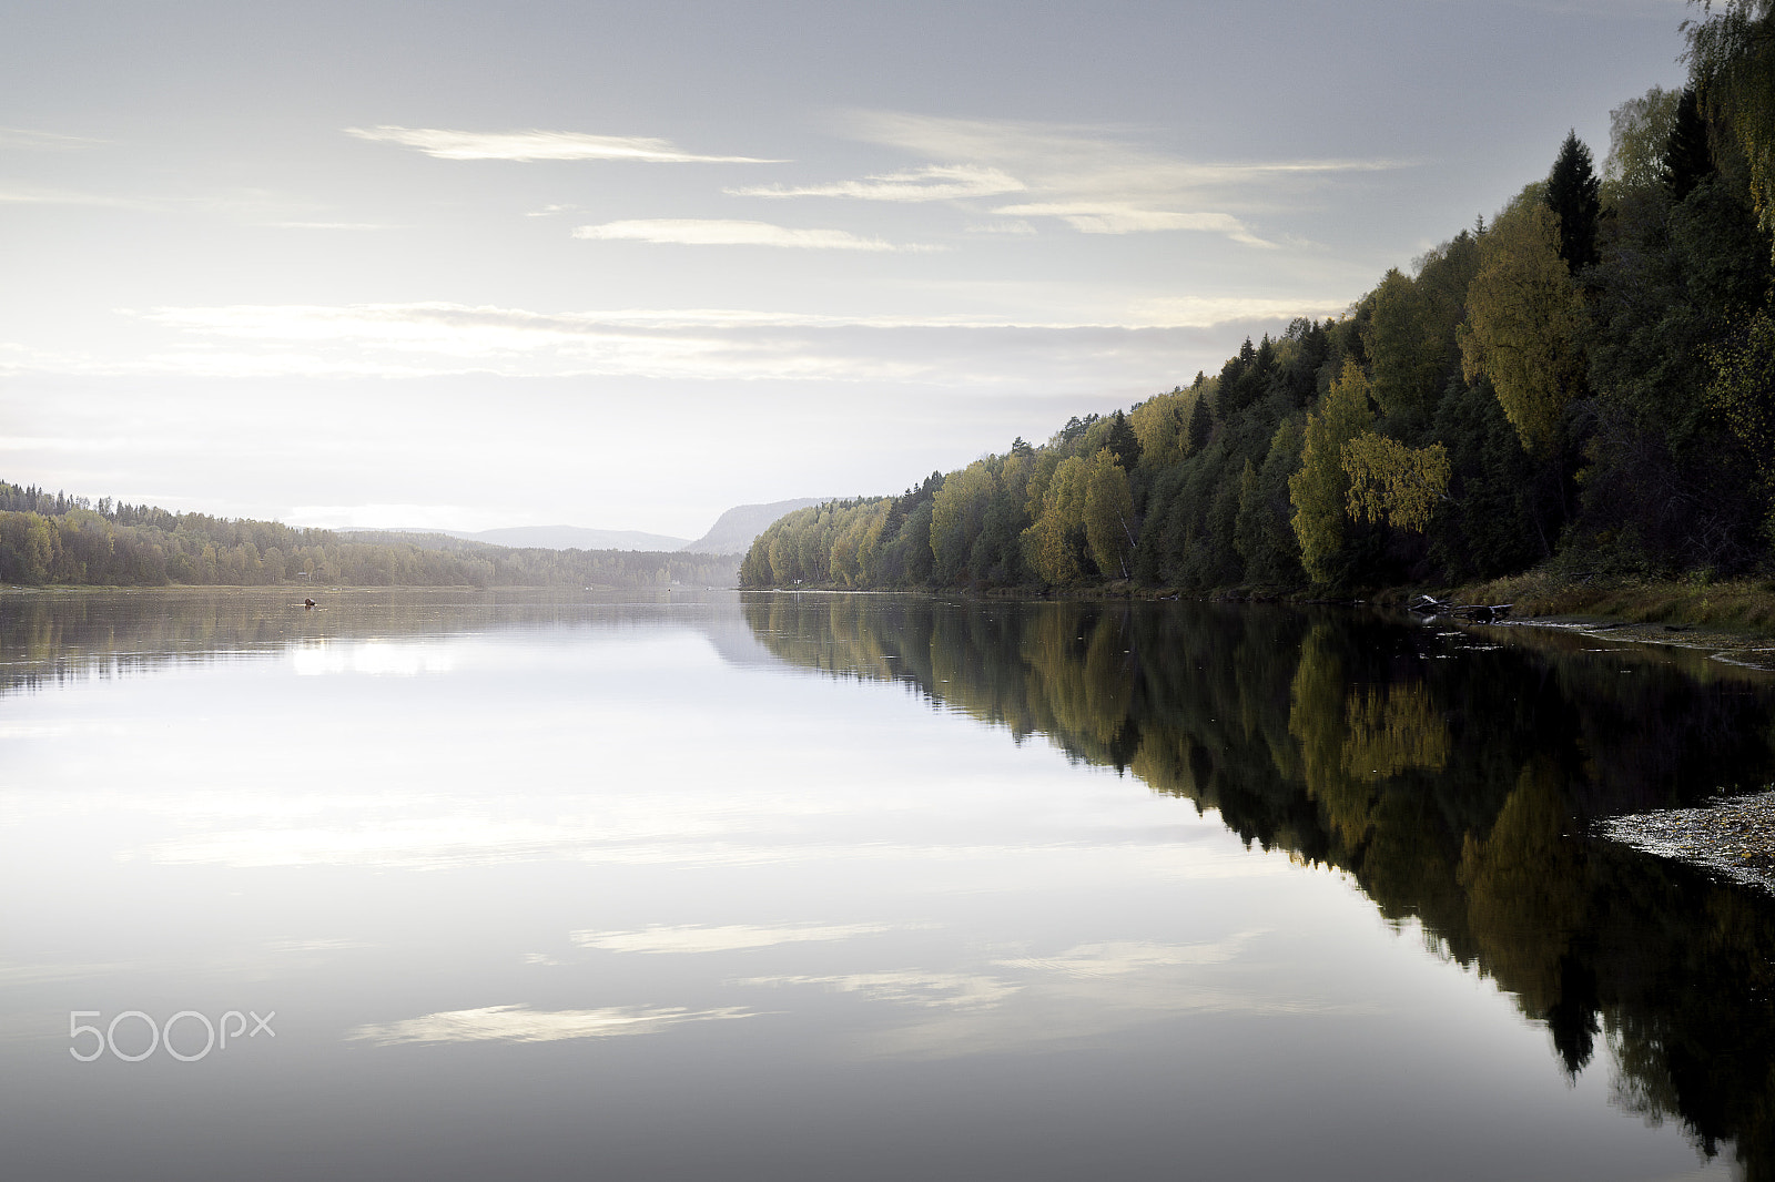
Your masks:
<svg viewBox="0 0 1775 1182"><path fill-rule="evenodd" d="M7 1177L1775 1171L1775 907L1585 836L1775 777L1755 674L320 598L0 596Z"/></svg>

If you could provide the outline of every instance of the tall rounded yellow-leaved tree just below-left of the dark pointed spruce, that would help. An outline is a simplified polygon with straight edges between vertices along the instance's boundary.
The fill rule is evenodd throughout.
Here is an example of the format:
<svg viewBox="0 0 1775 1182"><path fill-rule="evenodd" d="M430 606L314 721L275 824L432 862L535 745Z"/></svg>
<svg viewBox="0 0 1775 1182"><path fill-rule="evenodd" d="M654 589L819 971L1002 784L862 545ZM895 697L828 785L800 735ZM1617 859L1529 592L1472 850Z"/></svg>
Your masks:
<svg viewBox="0 0 1775 1182"><path fill-rule="evenodd" d="M1479 273L1459 330L1468 382L1491 378L1530 454L1546 453L1582 380L1578 286L1558 254L1553 211L1525 188L1479 240Z"/></svg>

